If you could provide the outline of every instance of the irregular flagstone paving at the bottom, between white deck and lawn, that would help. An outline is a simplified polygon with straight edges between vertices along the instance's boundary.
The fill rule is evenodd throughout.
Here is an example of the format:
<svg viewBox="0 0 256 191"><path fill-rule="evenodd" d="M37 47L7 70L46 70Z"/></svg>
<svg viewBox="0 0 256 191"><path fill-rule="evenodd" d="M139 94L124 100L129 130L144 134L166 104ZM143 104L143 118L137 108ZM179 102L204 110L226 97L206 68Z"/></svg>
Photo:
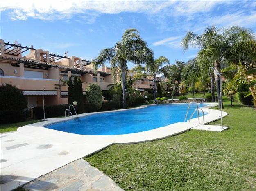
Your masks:
<svg viewBox="0 0 256 191"><path fill-rule="evenodd" d="M79 159L23 186L29 191L123 191L111 178Z"/></svg>

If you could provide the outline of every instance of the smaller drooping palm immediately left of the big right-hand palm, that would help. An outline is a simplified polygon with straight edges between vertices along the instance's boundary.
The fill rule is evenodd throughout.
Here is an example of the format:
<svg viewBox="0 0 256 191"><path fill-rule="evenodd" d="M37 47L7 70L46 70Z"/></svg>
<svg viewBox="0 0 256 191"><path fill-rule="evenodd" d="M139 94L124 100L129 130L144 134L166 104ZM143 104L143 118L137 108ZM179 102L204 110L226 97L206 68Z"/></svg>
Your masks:
<svg viewBox="0 0 256 191"><path fill-rule="evenodd" d="M182 80L190 85L193 89L193 98L195 97L195 84L199 80L199 65L197 63L197 59L194 58L188 61L186 67L184 67L182 71Z"/></svg>

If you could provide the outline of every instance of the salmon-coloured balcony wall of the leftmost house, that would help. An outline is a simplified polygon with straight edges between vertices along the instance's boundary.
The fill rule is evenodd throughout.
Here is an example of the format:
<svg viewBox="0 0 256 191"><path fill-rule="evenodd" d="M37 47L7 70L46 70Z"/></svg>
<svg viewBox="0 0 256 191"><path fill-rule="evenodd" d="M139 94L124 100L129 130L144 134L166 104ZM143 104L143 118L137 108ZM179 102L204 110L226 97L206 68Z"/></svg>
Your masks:
<svg viewBox="0 0 256 191"><path fill-rule="evenodd" d="M56 91L55 84L59 84L59 80L41 79L41 78L25 78L17 76L0 76L0 84L11 84L21 90L43 90Z"/></svg>

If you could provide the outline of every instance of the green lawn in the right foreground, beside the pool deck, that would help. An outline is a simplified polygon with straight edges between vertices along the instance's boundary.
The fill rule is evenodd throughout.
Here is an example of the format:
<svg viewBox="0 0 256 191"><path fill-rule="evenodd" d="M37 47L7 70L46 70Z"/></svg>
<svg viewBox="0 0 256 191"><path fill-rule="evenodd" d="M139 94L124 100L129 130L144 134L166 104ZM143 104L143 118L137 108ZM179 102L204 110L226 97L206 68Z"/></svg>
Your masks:
<svg viewBox="0 0 256 191"><path fill-rule="evenodd" d="M116 144L84 159L125 190L256 190L256 110L229 104L221 133Z"/></svg>

